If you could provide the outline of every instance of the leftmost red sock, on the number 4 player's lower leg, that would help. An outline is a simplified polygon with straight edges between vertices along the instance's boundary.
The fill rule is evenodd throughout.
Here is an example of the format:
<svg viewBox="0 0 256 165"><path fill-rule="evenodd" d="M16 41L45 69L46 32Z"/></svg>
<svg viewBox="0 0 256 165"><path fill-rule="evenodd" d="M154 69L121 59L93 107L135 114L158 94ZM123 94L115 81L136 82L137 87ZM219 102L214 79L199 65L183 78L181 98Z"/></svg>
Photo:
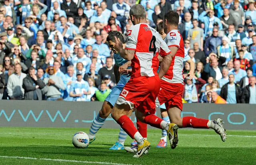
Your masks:
<svg viewBox="0 0 256 165"><path fill-rule="evenodd" d="M132 138L134 139L134 134L138 132L138 130L135 128L132 120L126 115L121 116L117 123L122 127L122 129Z"/></svg>

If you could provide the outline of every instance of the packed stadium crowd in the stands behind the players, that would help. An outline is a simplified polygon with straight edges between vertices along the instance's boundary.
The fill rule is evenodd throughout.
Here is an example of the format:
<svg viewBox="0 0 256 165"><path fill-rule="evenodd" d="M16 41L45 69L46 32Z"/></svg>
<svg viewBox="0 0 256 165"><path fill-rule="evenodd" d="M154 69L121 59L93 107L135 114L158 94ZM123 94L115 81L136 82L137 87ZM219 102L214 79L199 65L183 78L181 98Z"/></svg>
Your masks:
<svg viewBox="0 0 256 165"><path fill-rule="evenodd" d="M256 104L254 0L1 1L0 99L104 101L118 81L108 33L126 37L130 6L140 3L153 28L168 10L180 15L196 63L184 102Z"/></svg>

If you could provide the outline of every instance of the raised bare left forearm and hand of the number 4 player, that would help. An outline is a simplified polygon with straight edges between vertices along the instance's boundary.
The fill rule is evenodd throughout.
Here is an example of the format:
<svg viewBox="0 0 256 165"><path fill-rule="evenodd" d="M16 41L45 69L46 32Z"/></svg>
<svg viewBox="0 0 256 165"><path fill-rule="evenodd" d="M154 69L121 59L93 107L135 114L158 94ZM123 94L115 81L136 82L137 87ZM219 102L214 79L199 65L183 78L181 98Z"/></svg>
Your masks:
<svg viewBox="0 0 256 165"><path fill-rule="evenodd" d="M120 54L121 57L123 57L124 59L131 61L134 57L134 50L129 50L129 49L124 49L123 48L123 44L121 43L120 39L116 38L116 42L115 42L115 46L114 49L116 49L118 51L118 53Z"/></svg>

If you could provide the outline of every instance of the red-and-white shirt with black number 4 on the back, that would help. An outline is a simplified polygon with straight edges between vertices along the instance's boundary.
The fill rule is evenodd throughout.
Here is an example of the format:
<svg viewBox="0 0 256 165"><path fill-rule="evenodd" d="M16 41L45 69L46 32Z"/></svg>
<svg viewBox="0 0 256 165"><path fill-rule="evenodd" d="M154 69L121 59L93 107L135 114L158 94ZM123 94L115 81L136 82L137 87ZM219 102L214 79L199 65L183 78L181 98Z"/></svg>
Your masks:
<svg viewBox="0 0 256 165"><path fill-rule="evenodd" d="M157 75L158 59L166 56L171 51L163 41L161 35L148 24L136 24L127 31L127 40L125 49L134 50L134 58L132 59L132 76L153 77Z"/></svg>

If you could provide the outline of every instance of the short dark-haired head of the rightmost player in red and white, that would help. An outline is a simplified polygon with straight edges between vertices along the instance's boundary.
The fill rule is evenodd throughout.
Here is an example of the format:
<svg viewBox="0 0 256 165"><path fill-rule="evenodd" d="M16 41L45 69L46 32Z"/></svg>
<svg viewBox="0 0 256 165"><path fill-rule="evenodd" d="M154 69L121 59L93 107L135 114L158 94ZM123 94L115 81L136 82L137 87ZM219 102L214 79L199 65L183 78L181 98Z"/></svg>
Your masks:
<svg viewBox="0 0 256 165"><path fill-rule="evenodd" d="M179 14L175 12L174 10L169 10L164 14L164 33L168 34L170 30L172 29L167 29L168 26L174 26L176 29L178 29L178 24L179 24Z"/></svg>

